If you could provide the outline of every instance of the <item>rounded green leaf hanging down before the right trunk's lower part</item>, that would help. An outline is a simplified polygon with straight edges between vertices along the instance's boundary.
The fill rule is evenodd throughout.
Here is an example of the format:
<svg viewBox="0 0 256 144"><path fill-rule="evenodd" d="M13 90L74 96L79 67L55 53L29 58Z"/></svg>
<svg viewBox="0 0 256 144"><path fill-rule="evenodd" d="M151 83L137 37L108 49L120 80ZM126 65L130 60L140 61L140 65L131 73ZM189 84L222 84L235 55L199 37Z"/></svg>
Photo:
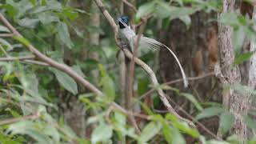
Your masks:
<svg viewBox="0 0 256 144"><path fill-rule="evenodd" d="M226 134L226 132L230 130L230 128L233 126L233 124L234 124L234 115L232 113L230 113L229 111L226 111L221 114L219 126L222 134Z"/></svg>

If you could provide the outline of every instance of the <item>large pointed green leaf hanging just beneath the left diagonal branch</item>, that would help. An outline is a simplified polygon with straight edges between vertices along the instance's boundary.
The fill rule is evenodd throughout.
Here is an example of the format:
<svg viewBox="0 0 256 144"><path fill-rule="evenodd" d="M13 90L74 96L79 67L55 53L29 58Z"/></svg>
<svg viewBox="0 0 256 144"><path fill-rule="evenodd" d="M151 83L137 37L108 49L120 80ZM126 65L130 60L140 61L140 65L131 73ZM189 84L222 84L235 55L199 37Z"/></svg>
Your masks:
<svg viewBox="0 0 256 144"><path fill-rule="evenodd" d="M60 70L50 68L50 71L55 74L61 86L63 86L66 90L69 90L72 94L78 94L78 86L73 78L70 78L68 74L63 73Z"/></svg>

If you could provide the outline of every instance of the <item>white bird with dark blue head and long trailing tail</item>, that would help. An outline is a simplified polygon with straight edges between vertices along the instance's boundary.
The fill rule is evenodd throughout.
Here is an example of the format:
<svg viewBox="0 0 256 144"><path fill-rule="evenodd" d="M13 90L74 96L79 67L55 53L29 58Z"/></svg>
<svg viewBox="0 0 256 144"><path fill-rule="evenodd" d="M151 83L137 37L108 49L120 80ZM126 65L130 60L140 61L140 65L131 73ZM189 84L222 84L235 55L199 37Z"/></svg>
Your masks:
<svg viewBox="0 0 256 144"><path fill-rule="evenodd" d="M138 40L138 35L135 34L134 30L130 29L129 21L130 21L129 18L126 15L118 18L118 34L119 34L119 37L122 39L122 41L130 46L131 52L132 52L134 50L135 42L137 42ZM189 85L189 82L186 78L186 74L184 73L181 63L178 61L176 54L174 54L174 52L170 50L168 46L162 44L161 42L156 41L153 38L144 37L143 35L141 36L140 41L138 42L138 45L143 47L148 47L151 50L160 50L162 48L166 48L167 50L169 50L170 54L174 56L181 70L184 86L187 87Z"/></svg>

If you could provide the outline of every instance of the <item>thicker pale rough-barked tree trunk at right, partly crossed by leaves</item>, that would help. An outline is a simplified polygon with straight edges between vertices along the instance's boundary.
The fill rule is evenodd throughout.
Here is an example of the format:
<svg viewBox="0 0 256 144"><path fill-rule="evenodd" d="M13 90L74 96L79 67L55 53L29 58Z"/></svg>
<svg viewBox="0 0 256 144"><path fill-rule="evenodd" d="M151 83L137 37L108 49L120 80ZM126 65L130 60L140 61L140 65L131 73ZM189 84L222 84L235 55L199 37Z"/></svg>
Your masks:
<svg viewBox="0 0 256 144"><path fill-rule="evenodd" d="M240 2L238 3L238 5ZM235 0L224 0L222 14L226 14L230 10L239 8L235 6ZM232 46L231 37L233 29L231 26L224 26L218 23L219 30L219 54L220 54L220 67L223 75L221 82L223 86L233 85L241 82L241 74L238 66L230 66L234 62L234 48ZM234 114L235 122L231 128L231 134L237 134L238 137L245 141L247 138L247 127L244 122L243 115L247 114L249 108L248 97L243 97L234 90L226 90L223 94L223 105L230 109Z"/></svg>

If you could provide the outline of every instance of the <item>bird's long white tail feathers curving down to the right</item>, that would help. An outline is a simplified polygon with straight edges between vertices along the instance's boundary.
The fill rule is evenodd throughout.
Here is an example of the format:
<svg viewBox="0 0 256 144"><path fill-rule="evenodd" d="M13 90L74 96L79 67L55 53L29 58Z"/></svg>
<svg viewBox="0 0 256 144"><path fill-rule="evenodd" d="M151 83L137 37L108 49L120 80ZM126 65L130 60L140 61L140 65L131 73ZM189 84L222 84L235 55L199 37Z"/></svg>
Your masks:
<svg viewBox="0 0 256 144"><path fill-rule="evenodd" d="M138 39L138 35L134 36L133 40L134 42L136 42ZM182 78L183 78L183 83L184 83L184 86L187 87L189 82L186 78L186 74L184 73L184 70L182 68L182 65L181 63L178 61L178 58L176 56L176 54L174 54L174 52L172 50L170 50L169 47L167 47L166 45L162 44L161 42L158 42L156 40L154 40L153 38L146 38L146 37L142 37L140 39L140 42L139 42L139 45L140 46L146 46L146 47L149 47L151 50L160 50L161 48L166 48L167 50L170 51L170 54L172 54L175 58L175 60L178 62L178 66L182 72Z"/></svg>

